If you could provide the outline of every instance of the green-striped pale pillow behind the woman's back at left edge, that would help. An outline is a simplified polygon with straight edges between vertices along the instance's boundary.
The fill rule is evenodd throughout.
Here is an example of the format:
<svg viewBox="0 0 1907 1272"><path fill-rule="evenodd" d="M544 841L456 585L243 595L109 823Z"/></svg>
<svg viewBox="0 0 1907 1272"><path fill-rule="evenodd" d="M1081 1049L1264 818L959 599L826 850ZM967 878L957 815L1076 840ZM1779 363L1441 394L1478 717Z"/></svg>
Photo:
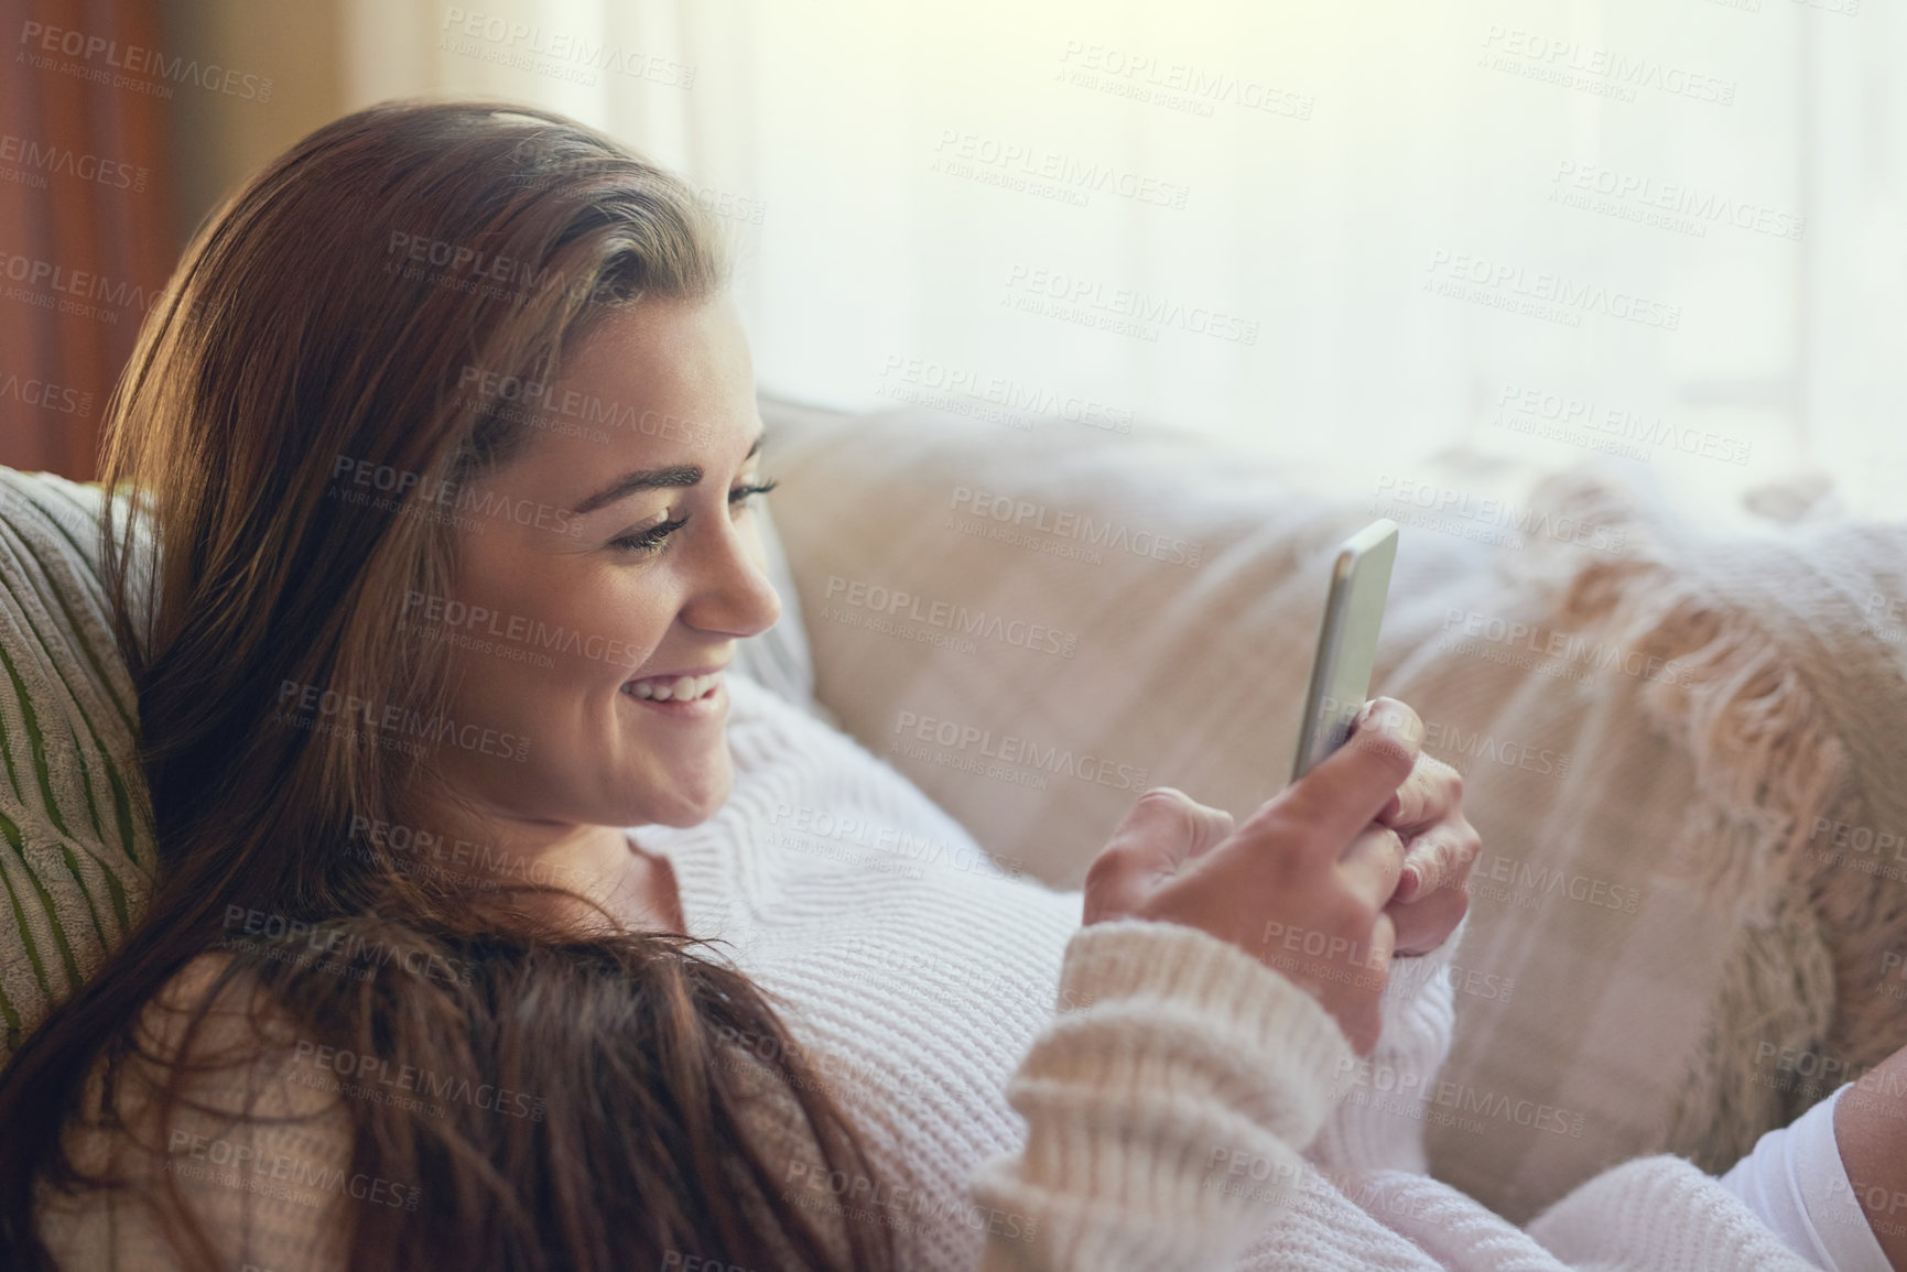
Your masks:
<svg viewBox="0 0 1907 1272"><path fill-rule="evenodd" d="M158 866L99 500L0 467L0 1064L126 936Z"/></svg>

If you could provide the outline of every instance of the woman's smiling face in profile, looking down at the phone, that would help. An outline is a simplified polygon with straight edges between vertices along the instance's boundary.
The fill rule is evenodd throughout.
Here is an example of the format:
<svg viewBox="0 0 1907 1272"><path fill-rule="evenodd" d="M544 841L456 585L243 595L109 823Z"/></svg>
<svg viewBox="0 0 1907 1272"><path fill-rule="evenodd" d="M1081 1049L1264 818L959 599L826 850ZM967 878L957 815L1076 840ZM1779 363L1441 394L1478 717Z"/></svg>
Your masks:
<svg viewBox="0 0 1907 1272"><path fill-rule="evenodd" d="M437 763L519 830L694 826L734 776L725 677L687 702L639 692L725 667L782 610L749 513L761 418L748 338L728 297L645 299L563 372L526 408L528 446L456 492L450 595L414 595L406 612L448 643L460 732L526 746L446 738ZM515 385L467 387L524 404Z"/></svg>

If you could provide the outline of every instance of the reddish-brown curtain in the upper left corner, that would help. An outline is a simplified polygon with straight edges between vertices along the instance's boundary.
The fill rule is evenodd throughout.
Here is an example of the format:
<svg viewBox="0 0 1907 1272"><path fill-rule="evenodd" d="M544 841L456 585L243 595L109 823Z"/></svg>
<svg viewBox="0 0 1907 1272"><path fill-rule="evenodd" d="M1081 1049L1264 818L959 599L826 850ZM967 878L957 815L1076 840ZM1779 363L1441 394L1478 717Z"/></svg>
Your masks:
<svg viewBox="0 0 1907 1272"><path fill-rule="evenodd" d="M177 257L158 0L0 0L0 463L92 479Z"/></svg>

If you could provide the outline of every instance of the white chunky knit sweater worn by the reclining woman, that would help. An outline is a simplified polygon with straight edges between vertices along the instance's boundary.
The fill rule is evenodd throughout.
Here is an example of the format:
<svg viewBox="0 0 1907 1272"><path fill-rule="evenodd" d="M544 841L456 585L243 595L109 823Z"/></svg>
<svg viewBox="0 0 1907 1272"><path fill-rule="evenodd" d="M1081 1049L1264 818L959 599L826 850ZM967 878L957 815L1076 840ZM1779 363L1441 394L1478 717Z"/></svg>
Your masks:
<svg viewBox="0 0 1907 1272"><path fill-rule="evenodd" d="M891 1226L904 1268L1810 1266L1678 1158L1611 1169L1528 1232L1423 1175L1423 1119L1463 1100L1436 1081L1457 938L1394 965L1383 1037L1358 1060L1257 959L1169 923L1081 929L1079 892L1003 873L858 742L740 675L728 692L732 797L700 826L633 835L864 1133L871 1180L828 1177L789 1137L786 1196L835 1226ZM273 1135L256 1159L282 1152ZM347 1169L341 1123L299 1135L301 1159ZM338 1266L320 1211L212 1194L254 1236L235 1259ZM103 1203L48 1219L67 1266L170 1266Z"/></svg>

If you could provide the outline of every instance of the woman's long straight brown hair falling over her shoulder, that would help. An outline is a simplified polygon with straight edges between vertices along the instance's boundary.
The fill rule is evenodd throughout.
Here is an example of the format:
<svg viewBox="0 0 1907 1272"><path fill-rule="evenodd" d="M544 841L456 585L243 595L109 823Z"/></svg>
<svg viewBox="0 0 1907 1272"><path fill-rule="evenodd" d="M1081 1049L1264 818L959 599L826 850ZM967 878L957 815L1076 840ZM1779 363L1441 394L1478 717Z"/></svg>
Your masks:
<svg viewBox="0 0 1907 1272"><path fill-rule="evenodd" d="M101 1062L111 1093L128 1062L162 1064L141 1011L215 950L231 961L177 1055L215 997L257 984L301 1039L538 1097L536 1118L343 1100L353 1165L421 1184L414 1211L353 1207L351 1266L892 1264L885 1228L849 1222L843 1245L786 1200L786 1161L748 1135L749 1083L725 1039L765 1039L751 1057L828 1169L871 1177L763 990L687 934L559 931L507 889L477 904L416 870L397 835L355 831L406 824L431 749L297 715L338 694L444 717L444 646L391 616L406 595L446 593L452 519L433 492L507 462L530 427L507 395L461 391L471 368L547 383L603 315L711 297L727 271L681 179L507 103L339 118L195 236L114 393L103 456L107 490L126 496L105 521L105 574L160 872L132 936L0 1074L0 1264L51 1266L38 1184L111 1184L63 1146L69 1119L126 1125L111 1097L88 1108L84 1077ZM338 498L341 465L370 465L351 471L379 475L379 500ZM233 913L263 921L231 942ZM294 948L334 967L317 975ZM454 971L359 975L393 957ZM256 1055L267 1045L259 1032ZM170 1068L162 1114L181 1098L185 1066ZM172 1175L166 1196L179 1257L208 1261Z"/></svg>

